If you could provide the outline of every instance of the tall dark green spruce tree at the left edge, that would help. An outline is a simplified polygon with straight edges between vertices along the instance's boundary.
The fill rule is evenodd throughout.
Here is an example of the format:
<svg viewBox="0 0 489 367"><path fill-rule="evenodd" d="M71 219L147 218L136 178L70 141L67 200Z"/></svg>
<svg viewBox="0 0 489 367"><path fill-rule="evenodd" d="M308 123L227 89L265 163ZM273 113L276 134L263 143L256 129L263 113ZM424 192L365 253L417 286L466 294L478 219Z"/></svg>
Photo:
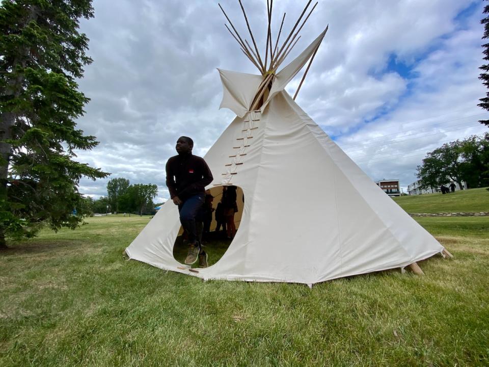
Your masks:
<svg viewBox="0 0 489 367"><path fill-rule="evenodd" d="M98 144L75 123L89 100L75 80L92 62L78 31L79 18L93 17L91 3L0 4L0 247L6 237L31 237L42 223L75 228L84 214L79 179L107 176L73 160L73 150Z"/></svg>

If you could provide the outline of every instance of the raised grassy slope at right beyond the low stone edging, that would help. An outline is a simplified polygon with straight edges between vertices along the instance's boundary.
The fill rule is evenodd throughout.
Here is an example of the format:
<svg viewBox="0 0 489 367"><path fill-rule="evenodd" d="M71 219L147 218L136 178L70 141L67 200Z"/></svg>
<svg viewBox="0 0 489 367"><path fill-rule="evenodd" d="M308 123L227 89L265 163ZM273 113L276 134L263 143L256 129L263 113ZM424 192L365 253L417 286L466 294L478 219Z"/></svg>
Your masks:
<svg viewBox="0 0 489 367"><path fill-rule="evenodd" d="M399 196L394 201L408 213L489 212L489 191L486 188L445 195Z"/></svg>

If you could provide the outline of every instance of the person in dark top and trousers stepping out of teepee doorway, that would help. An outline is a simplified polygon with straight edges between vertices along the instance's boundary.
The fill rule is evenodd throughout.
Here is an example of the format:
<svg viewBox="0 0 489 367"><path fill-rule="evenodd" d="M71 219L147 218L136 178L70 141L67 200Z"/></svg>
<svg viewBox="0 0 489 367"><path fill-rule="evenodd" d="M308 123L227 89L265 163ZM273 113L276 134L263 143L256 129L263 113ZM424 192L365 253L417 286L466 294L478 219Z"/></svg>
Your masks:
<svg viewBox="0 0 489 367"><path fill-rule="evenodd" d="M199 258L199 265L207 267L207 254L201 250L197 241L195 217L204 203L205 187L213 178L204 159L192 154L193 147L194 141L191 138L178 138L175 147L178 155L172 156L166 165L166 182L173 203L178 205L180 223L188 236L185 264L194 264Z"/></svg>

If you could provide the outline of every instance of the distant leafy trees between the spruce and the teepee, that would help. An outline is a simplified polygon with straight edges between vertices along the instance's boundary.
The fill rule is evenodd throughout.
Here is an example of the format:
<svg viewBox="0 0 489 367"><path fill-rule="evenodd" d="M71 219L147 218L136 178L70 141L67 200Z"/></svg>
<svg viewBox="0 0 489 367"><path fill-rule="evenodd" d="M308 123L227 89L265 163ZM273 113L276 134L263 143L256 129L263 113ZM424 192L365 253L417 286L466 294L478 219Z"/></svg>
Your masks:
<svg viewBox="0 0 489 367"><path fill-rule="evenodd" d="M158 187L151 183L130 185L127 178L113 178L107 183L107 196L85 199L84 212L154 214L157 204L153 199L157 195Z"/></svg>

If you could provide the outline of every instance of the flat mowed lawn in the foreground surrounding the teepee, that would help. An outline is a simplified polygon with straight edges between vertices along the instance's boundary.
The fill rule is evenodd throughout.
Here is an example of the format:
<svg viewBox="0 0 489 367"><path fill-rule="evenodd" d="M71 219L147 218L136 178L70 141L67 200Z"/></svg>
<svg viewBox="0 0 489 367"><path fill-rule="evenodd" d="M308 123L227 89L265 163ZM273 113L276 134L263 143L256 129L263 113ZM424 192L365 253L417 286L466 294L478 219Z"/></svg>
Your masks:
<svg viewBox="0 0 489 367"><path fill-rule="evenodd" d="M474 192L474 203L489 196ZM445 196L432 195L433 210L474 211L447 209ZM400 199L427 212L424 197ZM0 253L0 365L489 365L489 217L416 220L455 257L422 261L424 276L391 270L312 290L124 260L149 217L45 230ZM225 248L206 250L212 264Z"/></svg>

